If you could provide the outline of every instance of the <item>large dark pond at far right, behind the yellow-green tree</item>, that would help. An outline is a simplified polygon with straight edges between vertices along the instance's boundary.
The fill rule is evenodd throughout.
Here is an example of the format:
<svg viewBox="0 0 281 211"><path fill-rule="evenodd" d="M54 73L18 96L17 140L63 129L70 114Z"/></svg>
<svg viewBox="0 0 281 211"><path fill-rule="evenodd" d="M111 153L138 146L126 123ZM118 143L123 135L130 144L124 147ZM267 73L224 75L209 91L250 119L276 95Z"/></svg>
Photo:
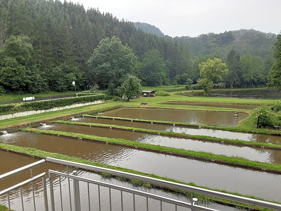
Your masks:
<svg viewBox="0 0 281 211"><path fill-rule="evenodd" d="M187 92L177 95L183 96L204 96L204 92ZM255 90L211 90L208 93L209 97L221 98L245 98L245 99L280 99L281 93L276 92L276 89L255 89Z"/></svg>

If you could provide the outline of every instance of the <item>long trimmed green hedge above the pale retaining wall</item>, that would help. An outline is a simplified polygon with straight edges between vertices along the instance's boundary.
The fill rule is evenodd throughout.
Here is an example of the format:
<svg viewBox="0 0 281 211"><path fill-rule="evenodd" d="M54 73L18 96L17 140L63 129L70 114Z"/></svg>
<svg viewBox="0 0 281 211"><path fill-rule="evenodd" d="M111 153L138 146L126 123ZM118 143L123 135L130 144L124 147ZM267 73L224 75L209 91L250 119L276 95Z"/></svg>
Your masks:
<svg viewBox="0 0 281 211"><path fill-rule="evenodd" d="M82 97L59 98L42 101L32 101L26 103L5 104L0 105L0 115L11 114L16 112L31 111L31 110L45 110L60 106L69 106L76 103L87 103L96 100L103 100L104 95L87 95Z"/></svg>

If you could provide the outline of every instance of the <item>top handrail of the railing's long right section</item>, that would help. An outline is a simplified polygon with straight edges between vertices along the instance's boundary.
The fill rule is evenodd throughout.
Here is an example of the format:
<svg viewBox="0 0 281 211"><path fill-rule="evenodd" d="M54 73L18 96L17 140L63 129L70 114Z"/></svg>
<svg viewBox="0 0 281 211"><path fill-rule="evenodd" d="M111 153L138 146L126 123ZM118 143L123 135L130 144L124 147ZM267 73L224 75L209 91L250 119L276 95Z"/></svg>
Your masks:
<svg viewBox="0 0 281 211"><path fill-rule="evenodd" d="M63 164L63 165L68 165L68 166L74 166L77 168L90 170L90 171L113 174L113 175L120 176L120 177L141 180L143 182L148 182L148 183L152 183L152 184L156 184L156 185L160 185L160 186L167 186L167 187L190 191L190 192L207 195L207 196L211 196L211 197L215 197L215 198L221 198L221 199L239 202L239 203L243 203L243 204L250 204L250 205L253 205L256 207L263 207L263 208L267 208L270 210L281 211L281 204L274 204L274 203L267 202L267 201L261 201L261 200L256 200L256 199L252 199L252 198L231 195L228 193L222 193L222 192L218 192L218 191L179 184L179 183L170 182L167 180L160 180L160 179L146 177L146 176L142 176L142 175L138 175L138 174L132 174L132 173L127 173L127 172L113 170L113 169L106 169L103 167L91 166L91 165L87 165L87 164L66 161L66 160L61 160L61 159L56 159L56 158L51 158L51 157L47 157L46 161L53 162L53 163L59 163L59 164Z"/></svg>

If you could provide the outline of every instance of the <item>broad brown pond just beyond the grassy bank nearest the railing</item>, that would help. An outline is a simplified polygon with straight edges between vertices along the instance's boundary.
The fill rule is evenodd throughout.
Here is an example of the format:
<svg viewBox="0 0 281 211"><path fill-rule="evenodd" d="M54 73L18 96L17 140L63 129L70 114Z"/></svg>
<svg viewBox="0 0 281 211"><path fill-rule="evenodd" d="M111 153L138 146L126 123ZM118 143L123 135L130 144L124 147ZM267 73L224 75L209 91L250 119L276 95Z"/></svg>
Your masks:
<svg viewBox="0 0 281 211"><path fill-rule="evenodd" d="M279 174L29 132L16 132L9 138L0 136L0 142L81 157L85 160L194 182L210 188L281 201Z"/></svg>

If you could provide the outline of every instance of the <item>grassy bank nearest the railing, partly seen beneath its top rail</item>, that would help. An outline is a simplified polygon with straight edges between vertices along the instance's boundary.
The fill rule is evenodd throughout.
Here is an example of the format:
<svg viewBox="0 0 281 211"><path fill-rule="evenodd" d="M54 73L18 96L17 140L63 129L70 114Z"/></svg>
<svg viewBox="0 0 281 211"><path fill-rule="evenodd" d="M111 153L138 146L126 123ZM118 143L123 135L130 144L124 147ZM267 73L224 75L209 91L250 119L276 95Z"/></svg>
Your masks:
<svg viewBox="0 0 281 211"><path fill-rule="evenodd" d="M242 194L239 194L239 193L228 192L228 191L220 190L220 189L211 189L211 188L208 188L208 187L205 187L205 186L198 186L194 183L184 183L182 181L178 181L178 180L175 180L175 179L172 179L172 178L160 177L160 176L155 175L155 174L148 174L148 173L135 171L135 170L132 170L132 169L126 169L126 168L122 168L122 167L118 167L118 166L110 166L110 165L102 164L102 163L99 163L99 162L84 160L84 159L81 159L81 158L78 158L78 157L72 157L72 156L63 155L63 154L59 154L59 153L42 151L42 150L35 149L35 148L27 148L27 147L20 147L20 146L8 145L8 144L0 144L0 149L3 149L5 151L16 152L16 153L23 154L23 155L28 155L30 157L39 158L39 159L45 159L46 157L52 157L52 158L68 160L68 161L77 162L77 163L88 164L88 165L92 165L92 166L99 166L99 167L103 167L103 168L114 169L114 170L118 170L118 171L124 171L124 172L128 172L128 173L143 175L143 176L152 177L152 178L156 178L156 179L167 180L167 181L185 184L185 185L189 185L189 186L195 186L195 187L209 189L209 190L213 190L213 191L219 191L219 192L228 193L228 194L232 194L232 195L238 195L238 196L243 196L243 197L247 197L247 198L252 198L252 199L257 199L257 200L262 200L262 201L268 201L268 202L276 203L276 204L281 204L281 202L269 201L269 200L265 200L265 199L258 198L258 197L255 197L255 196L242 195ZM106 175L106 176L109 177L109 175ZM156 186L156 185L149 184L149 183L143 183L143 182L140 182L140 181L130 181L126 178L125 178L125 180L127 182L131 182L134 185L144 186L144 187L147 187L147 188L149 188L149 187L163 188L161 186ZM171 190L169 187L164 187L164 188L167 188L167 190ZM176 190L175 192L176 192L176 194L181 194L181 195L186 196L190 199L190 192L186 192L186 191L183 191L183 190ZM215 201L218 201L218 202L226 202L226 203L232 204L232 202L227 201L227 200L208 197L208 196L199 195L199 194L193 194L193 197L199 198L199 200L202 200L202 199L204 200L204 198L210 198L211 200L215 200ZM268 209L258 208L258 207L254 207L254 206L251 206L251 205L245 205L245 204L240 204L240 203L236 203L236 204L237 204L237 206L245 206L245 207L251 207L253 209L268 211Z"/></svg>

